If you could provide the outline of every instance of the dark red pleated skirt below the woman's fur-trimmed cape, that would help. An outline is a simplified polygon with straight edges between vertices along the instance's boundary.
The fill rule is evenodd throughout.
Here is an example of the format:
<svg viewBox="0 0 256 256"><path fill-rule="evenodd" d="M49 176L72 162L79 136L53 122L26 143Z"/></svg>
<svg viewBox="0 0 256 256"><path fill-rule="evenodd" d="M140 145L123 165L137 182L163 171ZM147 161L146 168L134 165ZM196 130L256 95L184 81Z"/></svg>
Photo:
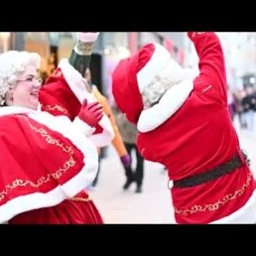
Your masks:
<svg viewBox="0 0 256 256"><path fill-rule="evenodd" d="M74 198L64 200L53 207L34 209L18 214L9 220L9 224L103 224L103 219L92 200L83 192Z"/></svg>

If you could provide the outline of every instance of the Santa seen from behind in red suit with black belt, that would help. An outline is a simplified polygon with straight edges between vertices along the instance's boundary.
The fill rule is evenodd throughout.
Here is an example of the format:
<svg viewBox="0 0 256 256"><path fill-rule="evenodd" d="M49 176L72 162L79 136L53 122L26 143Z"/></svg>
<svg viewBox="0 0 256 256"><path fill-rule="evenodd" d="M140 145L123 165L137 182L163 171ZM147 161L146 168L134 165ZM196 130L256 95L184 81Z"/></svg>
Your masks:
<svg viewBox="0 0 256 256"><path fill-rule="evenodd" d="M255 223L256 183L228 112L220 41L188 37L198 73L147 44L116 66L113 96L138 127L142 156L167 167L177 223Z"/></svg>

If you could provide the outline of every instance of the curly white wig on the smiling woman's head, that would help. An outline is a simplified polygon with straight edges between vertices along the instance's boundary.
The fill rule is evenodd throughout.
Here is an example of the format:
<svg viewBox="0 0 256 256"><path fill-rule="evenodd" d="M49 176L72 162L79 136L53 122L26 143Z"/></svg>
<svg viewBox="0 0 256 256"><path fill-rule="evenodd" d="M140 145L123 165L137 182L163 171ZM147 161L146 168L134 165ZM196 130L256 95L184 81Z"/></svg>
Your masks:
<svg viewBox="0 0 256 256"><path fill-rule="evenodd" d="M0 55L0 105L3 105L6 92L10 85L21 76L26 66L40 66L41 57L37 53L9 51Z"/></svg>

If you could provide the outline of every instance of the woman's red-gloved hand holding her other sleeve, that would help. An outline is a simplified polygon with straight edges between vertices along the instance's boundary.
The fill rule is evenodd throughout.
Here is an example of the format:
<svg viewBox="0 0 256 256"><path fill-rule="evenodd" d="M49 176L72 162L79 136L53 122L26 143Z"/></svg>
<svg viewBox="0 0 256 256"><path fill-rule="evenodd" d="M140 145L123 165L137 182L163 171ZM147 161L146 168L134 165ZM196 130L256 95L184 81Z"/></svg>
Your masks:
<svg viewBox="0 0 256 256"><path fill-rule="evenodd" d="M95 127L103 116L103 107L99 102L87 104L87 100L83 101L78 117L90 127Z"/></svg>

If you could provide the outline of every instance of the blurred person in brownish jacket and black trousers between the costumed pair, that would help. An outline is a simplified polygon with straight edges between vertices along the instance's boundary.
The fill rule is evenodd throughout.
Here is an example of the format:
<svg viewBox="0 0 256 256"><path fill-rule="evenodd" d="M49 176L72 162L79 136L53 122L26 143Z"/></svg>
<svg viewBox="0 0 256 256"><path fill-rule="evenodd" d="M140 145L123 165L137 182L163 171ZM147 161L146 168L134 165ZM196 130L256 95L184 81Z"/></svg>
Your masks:
<svg viewBox="0 0 256 256"><path fill-rule="evenodd" d="M138 134L137 126L127 120L125 115L119 111L119 109L114 105L112 107L113 113L115 115L116 124L119 127L121 136L124 141L124 145L128 151L131 158L131 164L125 168L126 182L123 186L123 190L126 191L130 188L133 182L136 183L136 191L142 192L142 183L144 176L144 159L141 156L137 145L136 138ZM135 158L133 158L133 153ZM135 162L135 165L133 163ZM133 169L134 167L134 169Z"/></svg>

